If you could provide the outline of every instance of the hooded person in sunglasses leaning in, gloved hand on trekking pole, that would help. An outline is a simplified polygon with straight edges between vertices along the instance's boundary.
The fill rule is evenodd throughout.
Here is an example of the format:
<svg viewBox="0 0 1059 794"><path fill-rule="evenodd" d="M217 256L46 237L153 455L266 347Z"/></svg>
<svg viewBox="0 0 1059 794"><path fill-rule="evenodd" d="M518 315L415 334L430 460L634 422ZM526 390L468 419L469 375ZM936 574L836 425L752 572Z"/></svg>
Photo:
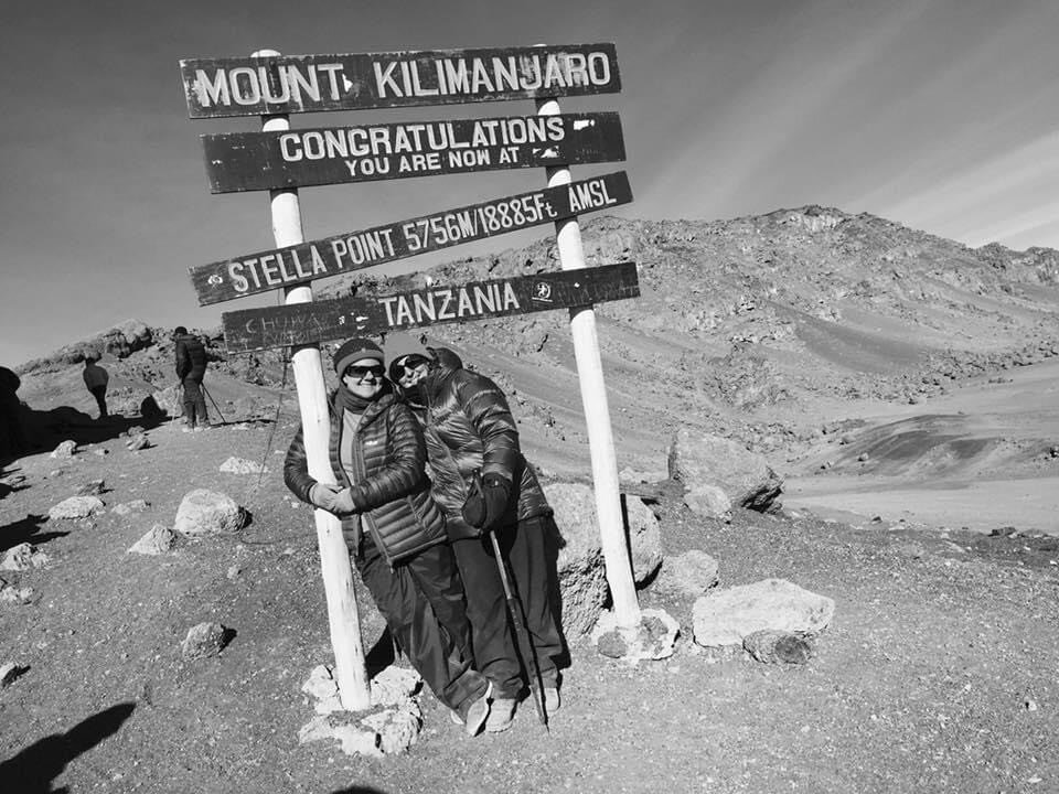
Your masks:
<svg viewBox="0 0 1059 794"><path fill-rule="evenodd" d="M452 351L425 347L407 334L386 337L386 361L391 379L418 406L425 425L431 493L445 511L467 588L474 661L496 695L485 730L510 728L525 690L489 530L496 533L511 566L544 683L545 708L552 713L559 708L556 657L563 652L563 639L552 604L544 539L555 527L537 476L518 447L507 400L495 383L464 369ZM479 473L484 498L469 504L471 482Z"/></svg>

